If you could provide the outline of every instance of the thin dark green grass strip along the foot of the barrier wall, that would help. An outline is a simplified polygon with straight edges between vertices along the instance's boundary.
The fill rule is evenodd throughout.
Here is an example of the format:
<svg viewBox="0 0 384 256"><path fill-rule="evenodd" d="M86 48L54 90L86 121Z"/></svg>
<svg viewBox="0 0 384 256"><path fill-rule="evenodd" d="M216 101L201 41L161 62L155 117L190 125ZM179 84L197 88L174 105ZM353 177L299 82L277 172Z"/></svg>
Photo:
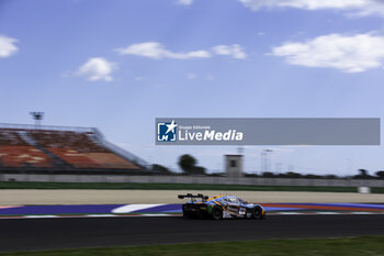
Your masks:
<svg viewBox="0 0 384 256"><path fill-rule="evenodd" d="M251 185L199 185L199 183L98 183L98 182L0 182L0 189L144 189L144 190L242 190L242 191L315 191L357 192L355 187L310 186L251 186ZM372 188L384 193L384 188Z"/></svg>

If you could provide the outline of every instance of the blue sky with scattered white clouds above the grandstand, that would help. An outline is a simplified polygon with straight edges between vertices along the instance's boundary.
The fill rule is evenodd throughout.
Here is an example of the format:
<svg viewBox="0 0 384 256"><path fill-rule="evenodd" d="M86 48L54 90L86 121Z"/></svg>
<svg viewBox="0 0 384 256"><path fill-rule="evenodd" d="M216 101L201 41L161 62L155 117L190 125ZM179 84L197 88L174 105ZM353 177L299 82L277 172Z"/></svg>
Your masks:
<svg viewBox="0 0 384 256"><path fill-rule="evenodd" d="M222 170L236 147L155 146L155 118L383 118L383 21L375 0L0 0L0 122L44 111ZM263 148L245 148L247 171ZM273 170L384 169L382 146L273 149Z"/></svg>

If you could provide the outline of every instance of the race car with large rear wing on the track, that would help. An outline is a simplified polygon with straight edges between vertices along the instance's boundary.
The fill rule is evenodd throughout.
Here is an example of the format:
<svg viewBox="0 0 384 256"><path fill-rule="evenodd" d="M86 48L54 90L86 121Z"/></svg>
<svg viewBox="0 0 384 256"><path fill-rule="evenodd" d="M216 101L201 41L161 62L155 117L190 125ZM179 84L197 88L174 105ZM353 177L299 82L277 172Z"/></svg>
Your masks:
<svg viewBox="0 0 384 256"><path fill-rule="evenodd" d="M207 197L199 194L179 194L179 199L190 198L189 202L182 205L184 218L211 218L221 219L266 219L264 209L257 203L249 203L235 196Z"/></svg>

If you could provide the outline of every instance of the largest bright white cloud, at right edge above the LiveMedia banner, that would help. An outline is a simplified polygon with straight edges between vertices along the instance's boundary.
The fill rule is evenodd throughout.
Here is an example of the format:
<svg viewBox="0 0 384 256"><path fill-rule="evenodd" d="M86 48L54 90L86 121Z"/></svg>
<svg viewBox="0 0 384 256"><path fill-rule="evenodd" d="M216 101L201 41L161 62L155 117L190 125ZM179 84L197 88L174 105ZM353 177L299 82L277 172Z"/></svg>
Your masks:
<svg viewBox="0 0 384 256"><path fill-rule="evenodd" d="M306 42L287 42L274 47L272 55L293 65L337 68L362 73L383 66L384 36L329 34Z"/></svg>

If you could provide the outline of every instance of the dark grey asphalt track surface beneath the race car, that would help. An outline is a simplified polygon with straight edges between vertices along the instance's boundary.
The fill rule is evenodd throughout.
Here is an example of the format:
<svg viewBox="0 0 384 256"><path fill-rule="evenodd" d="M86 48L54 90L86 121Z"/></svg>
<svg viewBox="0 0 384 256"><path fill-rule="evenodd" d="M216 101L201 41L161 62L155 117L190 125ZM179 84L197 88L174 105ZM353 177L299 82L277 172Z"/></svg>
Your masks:
<svg viewBox="0 0 384 256"><path fill-rule="evenodd" d="M261 221L179 216L0 220L1 252L360 235L384 235L384 215L273 215Z"/></svg>

